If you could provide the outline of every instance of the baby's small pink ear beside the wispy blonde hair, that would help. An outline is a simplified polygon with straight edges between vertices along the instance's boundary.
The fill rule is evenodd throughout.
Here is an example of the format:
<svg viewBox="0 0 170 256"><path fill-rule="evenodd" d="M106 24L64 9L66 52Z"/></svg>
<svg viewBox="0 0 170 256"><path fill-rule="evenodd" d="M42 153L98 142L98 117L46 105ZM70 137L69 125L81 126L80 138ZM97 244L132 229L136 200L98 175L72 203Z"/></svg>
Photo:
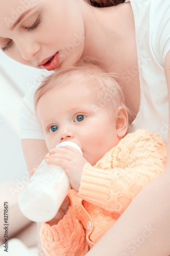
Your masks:
<svg viewBox="0 0 170 256"><path fill-rule="evenodd" d="M123 138L128 130L128 113L123 106L119 106L115 114L117 137Z"/></svg>

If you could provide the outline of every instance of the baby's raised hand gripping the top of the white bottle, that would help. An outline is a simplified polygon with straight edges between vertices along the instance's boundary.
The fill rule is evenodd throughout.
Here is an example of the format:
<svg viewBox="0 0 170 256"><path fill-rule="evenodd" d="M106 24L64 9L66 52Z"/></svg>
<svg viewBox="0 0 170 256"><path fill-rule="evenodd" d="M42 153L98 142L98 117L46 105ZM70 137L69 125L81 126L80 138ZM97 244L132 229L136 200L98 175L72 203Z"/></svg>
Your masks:
<svg viewBox="0 0 170 256"><path fill-rule="evenodd" d="M61 166L69 178L71 187L78 192L83 167L87 160L72 146L61 146L50 151L49 154L45 156L46 162Z"/></svg>

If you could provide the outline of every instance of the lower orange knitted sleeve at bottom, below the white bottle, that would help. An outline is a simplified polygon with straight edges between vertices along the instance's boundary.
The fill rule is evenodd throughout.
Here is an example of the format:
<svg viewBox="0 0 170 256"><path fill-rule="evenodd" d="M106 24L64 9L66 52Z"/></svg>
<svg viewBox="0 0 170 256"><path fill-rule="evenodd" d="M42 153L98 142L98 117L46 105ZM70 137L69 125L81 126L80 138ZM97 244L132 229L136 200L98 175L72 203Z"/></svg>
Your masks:
<svg viewBox="0 0 170 256"><path fill-rule="evenodd" d="M75 217L72 206L58 224L42 223L40 239L46 256L83 256L88 252L85 230Z"/></svg>

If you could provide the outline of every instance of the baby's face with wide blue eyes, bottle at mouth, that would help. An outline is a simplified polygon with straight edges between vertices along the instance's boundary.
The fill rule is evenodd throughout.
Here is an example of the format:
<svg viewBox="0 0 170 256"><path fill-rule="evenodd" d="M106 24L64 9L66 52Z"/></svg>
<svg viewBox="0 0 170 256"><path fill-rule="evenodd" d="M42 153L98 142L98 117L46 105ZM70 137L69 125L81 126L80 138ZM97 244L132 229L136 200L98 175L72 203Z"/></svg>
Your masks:
<svg viewBox="0 0 170 256"><path fill-rule="evenodd" d="M88 82L54 88L41 96L36 111L48 150L63 141L75 142L94 165L119 138L115 118L106 107L98 106L92 87Z"/></svg>

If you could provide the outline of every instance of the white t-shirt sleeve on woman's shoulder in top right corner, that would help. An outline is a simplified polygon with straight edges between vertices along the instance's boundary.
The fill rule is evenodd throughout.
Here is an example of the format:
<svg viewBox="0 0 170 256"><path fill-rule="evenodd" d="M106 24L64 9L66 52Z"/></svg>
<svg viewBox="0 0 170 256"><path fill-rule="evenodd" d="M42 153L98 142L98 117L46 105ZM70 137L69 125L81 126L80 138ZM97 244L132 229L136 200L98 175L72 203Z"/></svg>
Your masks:
<svg viewBox="0 0 170 256"><path fill-rule="evenodd" d="M151 18L154 25L155 51L159 61L164 63L170 50L170 1L154 0Z"/></svg>

